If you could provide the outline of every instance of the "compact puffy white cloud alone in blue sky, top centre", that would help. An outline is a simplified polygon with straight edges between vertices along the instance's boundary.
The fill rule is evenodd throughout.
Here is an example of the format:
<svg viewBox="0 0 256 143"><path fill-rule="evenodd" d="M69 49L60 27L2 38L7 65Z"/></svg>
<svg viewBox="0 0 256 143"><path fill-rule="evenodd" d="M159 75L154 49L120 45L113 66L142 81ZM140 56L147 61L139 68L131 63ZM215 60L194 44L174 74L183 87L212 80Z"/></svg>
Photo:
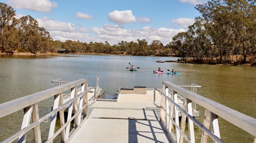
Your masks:
<svg viewBox="0 0 256 143"><path fill-rule="evenodd" d="M126 23L136 22L136 17L132 14L132 10L114 10L109 13L109 20L116 24L123 25Z"/></svg>

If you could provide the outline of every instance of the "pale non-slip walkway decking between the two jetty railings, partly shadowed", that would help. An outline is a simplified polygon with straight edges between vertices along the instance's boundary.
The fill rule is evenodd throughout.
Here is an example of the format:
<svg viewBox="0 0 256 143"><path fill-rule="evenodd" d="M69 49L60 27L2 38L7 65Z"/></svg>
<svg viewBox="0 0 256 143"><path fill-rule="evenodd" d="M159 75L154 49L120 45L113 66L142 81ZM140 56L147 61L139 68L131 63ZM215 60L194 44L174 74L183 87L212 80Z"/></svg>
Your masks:
<svg viewBox="0 0 256 143"><path fill-rule="evenodd" d="M156 103L160 106L161 96ZM159 121L160 109L147 94L119 94L117 102L96 101L89 118L67 142L171 142Z"/></svg>

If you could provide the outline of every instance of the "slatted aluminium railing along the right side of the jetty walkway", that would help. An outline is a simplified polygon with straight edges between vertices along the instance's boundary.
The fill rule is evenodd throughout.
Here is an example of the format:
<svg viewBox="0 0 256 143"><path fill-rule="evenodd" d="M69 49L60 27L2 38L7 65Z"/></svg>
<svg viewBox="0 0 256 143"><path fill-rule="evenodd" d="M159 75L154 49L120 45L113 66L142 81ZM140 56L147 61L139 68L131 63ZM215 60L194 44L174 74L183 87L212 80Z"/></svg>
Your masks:
<svg viewBox="0 0 256 143"><path fill-rule="evenodd" d="M207 143L208 137L212 138L213 142L223 142L220 138L218 125L219 116L253 135L254 143L256 143L255 118L230 109L222 104L205 98L192 91L186 90L168 81L163 81L162 91L154 89L154 92L155 91L159 92L162 97L160 121L174 142L183 142L185 139L187 142L195 143L194 125L198 126L198 128L202 130L201 143ZM177 95L181 95L184 98L183 107L180 107L177 104ZM203 124L192 116L192 101L205 108L205 118ZM182 112L180 124L178 110ZM188 119L188 132L185 132L186 118Z"/></svg>

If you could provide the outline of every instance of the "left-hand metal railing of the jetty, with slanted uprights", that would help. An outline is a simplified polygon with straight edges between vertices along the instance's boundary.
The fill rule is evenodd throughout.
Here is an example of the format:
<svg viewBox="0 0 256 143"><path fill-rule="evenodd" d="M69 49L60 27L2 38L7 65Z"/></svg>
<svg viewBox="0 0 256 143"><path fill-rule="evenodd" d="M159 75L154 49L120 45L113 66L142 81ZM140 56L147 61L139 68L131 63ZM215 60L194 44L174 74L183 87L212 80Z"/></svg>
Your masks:
<svg viewBox="0 0 256 143"><path fill-rule="evenodd" d="M59 84L59 83L58 83ZM73 97L66 103L63 103L63 92L68 91L70 89L76 89L77 86L82 85L82 91L80 94L77 94L78 92L76 90L73 90L72 94ZM20 109L25 109L24 110L24 116L23 116L23 121L21 125L21 130L18 131L17 133L14 133L12 136L6 138L3 140L3 143L10 143L13 142L15 139L19 138L18 142L25 142L26 141L26 133L30 131L31 129L34 129L34 137L35 137L35 142L36 143L41 143L41 131L40 131L40 123L44 122L44 120L48 119L52 115L52 120L53 122L55 119L55 114L57 112L60 113L60 126L61 128L57 130L51 137L49 137L48 141L46 142L52 142L52 140L59 134L61 133L61 142L65 142L67 138L65 138L65 128L70 124L70 122L75 119L79 114L81 116L81 112L83 111L83 116L87 117L88 115L88 97L87 97L87 92L89 92L92 89L95 89L96 87L92 87L87 90L87 79L80 79L77 81L69 82L67 84L57 86L55 88L51 88L49 90L43 91L43 92L38 92L35 94L31 94L19 99L15 99L13 101L9 101L3 104L0 104L0 110L1 114L0 117L6 116L10 113L16 112ZM85 90L86 89L86 90ZM45 100L49 97L53 97L54 95L57 95L54 101L53 105L53 111L47 113L43 117L39 118L39 111L38 111L38 103L42 100ZM86 96L86 97L85 97ZM59 99L58 99L59 98ZM82 105L79 107L79 110L77 110L77 113L73 115L70 120L67 120L66 123L64 123L64 112L63 108L66 105L70 105L70 103L73 103L75 100L82 98ZM28 106L30 105L30 106ZM78 107L76 107L78 108ZM87 110L87 111L86 111ZM32 123L30 123L32 115ZM84 121L86 118L82 118ZM54 123L51 123L53 125ZM50 127L51 131L53 127ZM69 129L66 131L69 132ZM50 133L52 134L52 133Z"/></svg>

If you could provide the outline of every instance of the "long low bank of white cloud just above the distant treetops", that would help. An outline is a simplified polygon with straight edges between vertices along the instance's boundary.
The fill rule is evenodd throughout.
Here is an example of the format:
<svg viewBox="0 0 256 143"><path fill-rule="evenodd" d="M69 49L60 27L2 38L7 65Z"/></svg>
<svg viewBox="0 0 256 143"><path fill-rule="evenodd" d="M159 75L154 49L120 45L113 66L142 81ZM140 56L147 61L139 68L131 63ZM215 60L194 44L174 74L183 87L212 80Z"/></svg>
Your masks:
<svg viewBox="0 0 256 143"><path fill-rule="evenodd" d="M172 41L173 36L178 32L185 31L184 29L167 29L167 28L152 28L145 26L141 29L125 29L119 25L105 24L101 28L93 27L92 29L84 28L80 24L75 26L72 23L61 22L43 17L37 19L40 27L44 27L49 31L53 40L81 41L90 43L108 41L111 45L117 44L121 40L127 42L137 42L137 39L146 39L148 44L153 40L160 40L164 45Z"/></svg>

